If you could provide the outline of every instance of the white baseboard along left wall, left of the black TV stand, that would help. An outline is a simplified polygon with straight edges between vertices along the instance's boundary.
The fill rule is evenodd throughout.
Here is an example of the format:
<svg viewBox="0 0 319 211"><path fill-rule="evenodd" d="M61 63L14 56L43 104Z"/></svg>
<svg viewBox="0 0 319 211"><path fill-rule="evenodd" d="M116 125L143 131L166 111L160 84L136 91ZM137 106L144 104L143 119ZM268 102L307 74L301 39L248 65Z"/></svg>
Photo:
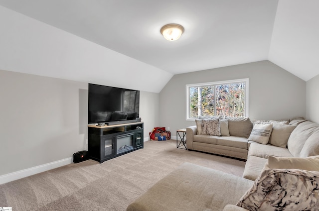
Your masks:
<svg viewBox="0 0 319 211"><path fill-rule="evenodd" d="M5 175L1 175L0 176L0 184L4 184L7 182L11 182L13 180L18 180L24 177L28 177L34 174L38 174L41 172L45 172L51 169L55 169L61 166L65 166L68 165L70 163L73 163L73 159L72 158L65 158L63 160L58 160L58 161L54 161L51 163L46 163L40 166L35 166L32 168L28 168L28 169L23 169L17 172L12 172L9 174L5 174Z"/></svg>

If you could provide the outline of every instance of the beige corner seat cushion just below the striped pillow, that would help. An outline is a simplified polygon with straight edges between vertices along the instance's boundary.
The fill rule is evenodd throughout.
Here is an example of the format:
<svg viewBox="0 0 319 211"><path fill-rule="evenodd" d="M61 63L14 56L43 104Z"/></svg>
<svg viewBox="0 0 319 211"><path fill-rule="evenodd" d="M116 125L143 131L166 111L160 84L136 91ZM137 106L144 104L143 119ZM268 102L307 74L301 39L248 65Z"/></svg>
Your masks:
<svg viewBox="0 0 319 211"><path fill-rule="evenodd" d="M276 157L293 157L287 148L282 148L273 145L263 145L258 143L251 143L248 156L256 156L261 158L268 158L268 156Z"/></svg>

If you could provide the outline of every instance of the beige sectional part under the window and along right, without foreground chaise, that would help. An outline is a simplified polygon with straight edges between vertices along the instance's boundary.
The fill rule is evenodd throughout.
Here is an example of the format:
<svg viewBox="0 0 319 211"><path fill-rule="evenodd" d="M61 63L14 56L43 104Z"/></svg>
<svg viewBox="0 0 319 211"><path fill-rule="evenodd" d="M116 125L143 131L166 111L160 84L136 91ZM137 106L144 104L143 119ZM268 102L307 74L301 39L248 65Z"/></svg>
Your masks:
<svg viewBox="0 0 319 211"><path fill-rule="evenodd" d="M255 124L272 123L269 142L250 141ZM229 118L229 136L197 134L198 124L186 128L187 149L247 159L244 178L255 180L269 156L309 157L319 155L319 124L305 118L289 120L253 120ZM273 145L273 144L275 145ZM287 147L286 147L287 146Z"/></svg>

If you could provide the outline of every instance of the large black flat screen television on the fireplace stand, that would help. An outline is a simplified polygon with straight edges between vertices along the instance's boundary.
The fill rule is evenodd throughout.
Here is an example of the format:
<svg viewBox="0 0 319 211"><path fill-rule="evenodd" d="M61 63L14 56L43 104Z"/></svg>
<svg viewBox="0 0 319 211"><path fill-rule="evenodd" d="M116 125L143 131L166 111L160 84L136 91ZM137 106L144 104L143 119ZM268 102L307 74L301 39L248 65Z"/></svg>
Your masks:
<svg viewBox="0 0 319 211"><path fill-rule="evenodd" d="M136 122L140 91L89 84L89 124Z"/></svg>

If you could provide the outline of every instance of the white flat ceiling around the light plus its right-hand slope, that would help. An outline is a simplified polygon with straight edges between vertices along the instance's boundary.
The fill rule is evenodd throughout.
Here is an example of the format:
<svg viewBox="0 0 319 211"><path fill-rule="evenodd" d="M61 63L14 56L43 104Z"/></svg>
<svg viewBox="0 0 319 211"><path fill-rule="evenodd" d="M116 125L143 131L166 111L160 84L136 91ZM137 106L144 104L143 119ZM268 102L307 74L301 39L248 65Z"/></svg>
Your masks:
<svg viewBox="0 0 319 211"><path fill-rule="evenodd" d="M171 75L261 60L305 81L319 74L318 0L0 0L0 5ZM179 40L161 36L167 23L185 28Z"/></svg>

